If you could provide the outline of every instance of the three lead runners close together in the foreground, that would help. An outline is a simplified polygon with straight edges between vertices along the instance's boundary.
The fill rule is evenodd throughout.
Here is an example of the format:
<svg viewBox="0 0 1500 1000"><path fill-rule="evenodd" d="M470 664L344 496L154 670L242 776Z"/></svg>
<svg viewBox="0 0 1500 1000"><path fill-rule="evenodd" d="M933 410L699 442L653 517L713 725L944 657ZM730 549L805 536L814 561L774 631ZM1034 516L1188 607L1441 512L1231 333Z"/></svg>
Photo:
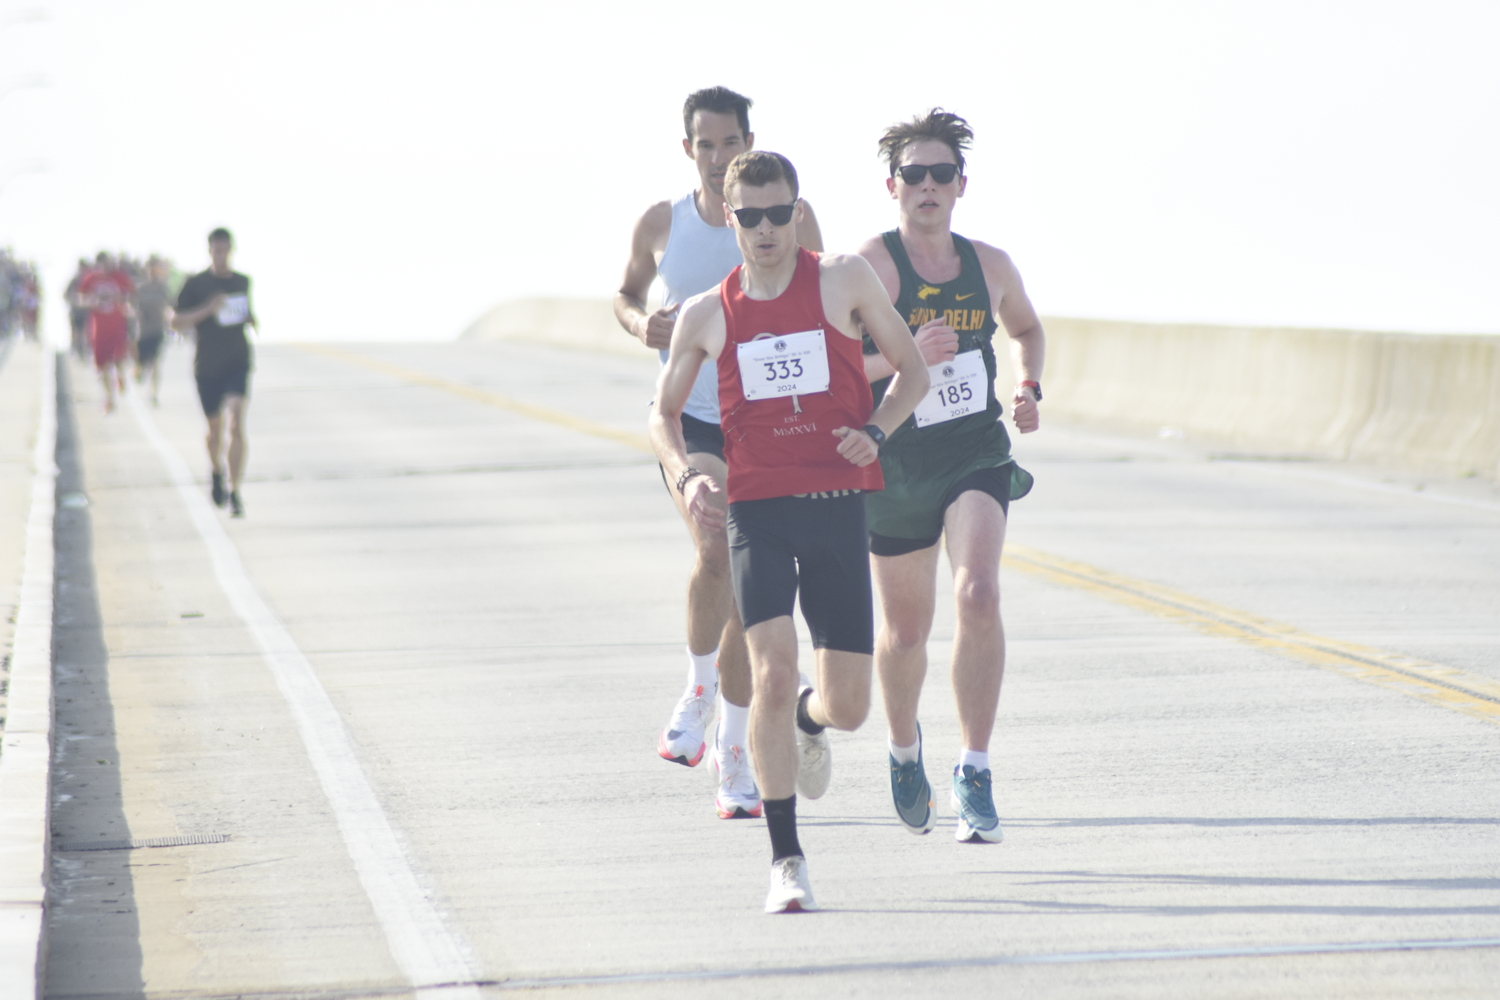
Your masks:
<svg viewBox="0 0 1500 1000"><path fill-rule="evenodd" d="M696 549L687 690L657 751L687 766L708 757L720 817L765 817L765 909L788 913L818 909L796 796L828 789L826 730L864 723L872 672L894 811L914 834L936 825L918 703L939 543L957 603L956 837L1002 840L988 760L1005 669L999 562L1010 502L1032 480L1011 457L993 337L1004 328L1020 375L1006 396L1022 433L1038 426L1046 342L1005 252L951 229L974 138L963 118L934 108L886 129L898 225L836 255L822 253L792 162L753 148L750 106L723 87L688 96L698 187L640 216L615 315L662 355L651 441ZM812 678L796 661L798 597Z"/></svg>

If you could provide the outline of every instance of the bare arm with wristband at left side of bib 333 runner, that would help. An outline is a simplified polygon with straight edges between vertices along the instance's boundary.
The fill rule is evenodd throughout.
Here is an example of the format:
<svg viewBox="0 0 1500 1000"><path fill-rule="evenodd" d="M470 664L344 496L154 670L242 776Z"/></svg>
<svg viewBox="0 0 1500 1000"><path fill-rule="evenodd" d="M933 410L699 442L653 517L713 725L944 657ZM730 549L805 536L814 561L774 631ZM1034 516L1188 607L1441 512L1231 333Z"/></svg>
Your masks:
<svg viewBox="0 0 1500 1000"><path fill-rule="evenodd" d="M672 331L672 346L662 378L657 379L650 420L651 447L662 462L669 489L676 489L678 480L688 471L682 406L687 405L704 361L718 357L723 349L723 307L716 288L688 298ZM724 526L724 511L706 499L717 492L718 484L706 474L693 475L682 483L687 511L704 528Z"/></svg>

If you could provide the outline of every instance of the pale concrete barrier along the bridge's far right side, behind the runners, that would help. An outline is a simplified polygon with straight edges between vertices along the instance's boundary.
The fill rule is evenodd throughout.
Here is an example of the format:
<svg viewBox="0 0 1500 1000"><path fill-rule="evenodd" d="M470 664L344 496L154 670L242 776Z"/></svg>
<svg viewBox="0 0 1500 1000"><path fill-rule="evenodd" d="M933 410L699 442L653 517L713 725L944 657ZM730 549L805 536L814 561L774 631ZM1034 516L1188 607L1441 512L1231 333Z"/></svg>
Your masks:
<svg viewBox="0 0 1500 1000"><path fill-rule="evenodd" d="M1286 457L1500 480L1500 336L1047 318L1046 412ZM502 303L465 339L640 355L609 300Z"/></svg>

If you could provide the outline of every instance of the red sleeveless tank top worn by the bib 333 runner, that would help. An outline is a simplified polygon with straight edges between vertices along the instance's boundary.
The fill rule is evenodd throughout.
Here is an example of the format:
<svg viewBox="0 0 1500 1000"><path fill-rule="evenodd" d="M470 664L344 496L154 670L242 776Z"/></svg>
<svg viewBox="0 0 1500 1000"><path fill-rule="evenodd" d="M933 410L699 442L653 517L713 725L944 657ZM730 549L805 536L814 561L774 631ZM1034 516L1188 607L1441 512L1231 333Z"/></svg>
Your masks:
<svg viewBox="0 0 1500 1000"><path fill-rule="evenodd" d="M860 340L846 337L824 315L818 255L798 249L792 283L771 300L747 297L740 288L741 270L736 267L718 286L726 334L718 354L718 411L729 502L880 489L880 463L852 465L838 454L832 433L834 427L864 427L874 403ZM828 390L747 400L736 345L804 330L824 331Z"/></svg>

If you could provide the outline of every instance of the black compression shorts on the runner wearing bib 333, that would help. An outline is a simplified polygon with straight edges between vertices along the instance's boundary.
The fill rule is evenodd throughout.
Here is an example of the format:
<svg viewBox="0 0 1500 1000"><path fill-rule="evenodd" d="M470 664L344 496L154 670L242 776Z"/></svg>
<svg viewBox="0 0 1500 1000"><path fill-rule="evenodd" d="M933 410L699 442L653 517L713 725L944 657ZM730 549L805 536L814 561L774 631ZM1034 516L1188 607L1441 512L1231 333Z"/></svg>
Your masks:
<svg viewBox="0 0 1500 1000"><path fill-rule="evenodd" d="M729 570L748 630L790 615L798 591L816 649L874 651L864 495L776 496L729 505Z"/></svg>

